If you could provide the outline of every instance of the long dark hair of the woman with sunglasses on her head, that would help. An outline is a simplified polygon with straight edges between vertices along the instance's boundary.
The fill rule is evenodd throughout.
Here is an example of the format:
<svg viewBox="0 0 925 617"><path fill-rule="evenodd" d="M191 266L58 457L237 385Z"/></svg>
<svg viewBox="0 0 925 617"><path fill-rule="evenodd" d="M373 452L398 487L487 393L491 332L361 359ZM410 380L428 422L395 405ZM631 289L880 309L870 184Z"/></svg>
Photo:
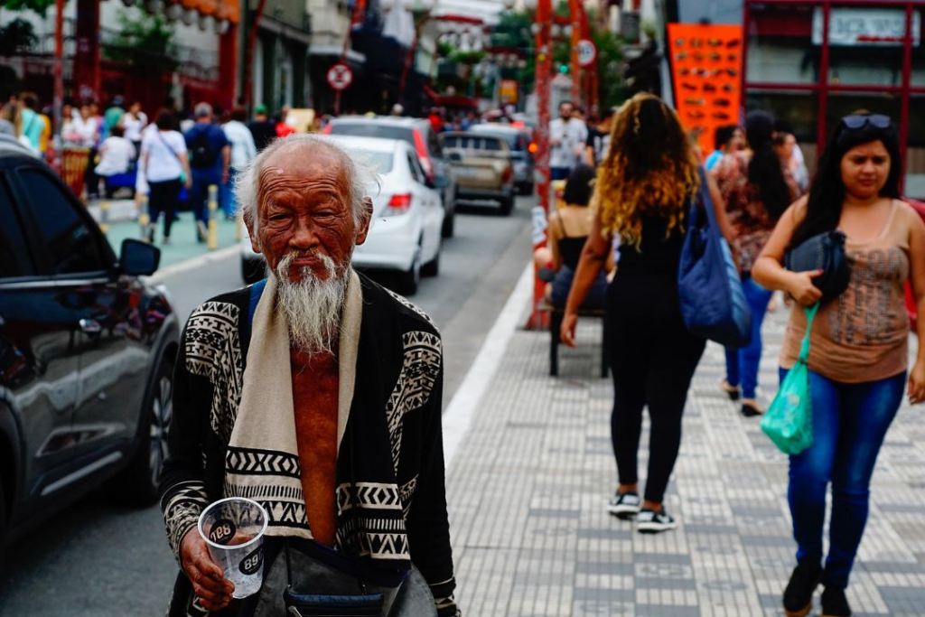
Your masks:
<svg viewBox="0 0 925 617"><path fill-rule="evenodd" d="M867 115L867 114L863 114ZM880 191L881 197L899 197L899 175L902 162L899 157L899 141L894 125L888 129L878 129L867 124L860 129L848 129L839 122L832 137L825 146L819 162L819 169L809 188L807 216L794 231L791 246L798 246L803 241L823 233L833 231L842 218L842 204L845 203L845 182L842 180L842 159L852 148L863 143L882 142L890 154L890 173L886 184Z"/></svg>

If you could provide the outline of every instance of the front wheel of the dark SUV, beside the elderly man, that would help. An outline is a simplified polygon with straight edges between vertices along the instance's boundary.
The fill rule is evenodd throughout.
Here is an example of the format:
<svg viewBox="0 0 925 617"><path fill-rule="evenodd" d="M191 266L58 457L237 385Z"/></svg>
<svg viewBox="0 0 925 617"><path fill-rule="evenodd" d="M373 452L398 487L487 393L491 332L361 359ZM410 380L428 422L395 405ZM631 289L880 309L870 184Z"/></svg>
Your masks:
<svg viewBox="0 0 925 617"><path fill-rule="evenodd" d="M131 463L116 478L118 499L135 505L157 500L157 483L167 454L167 431L173 420L173 363L161 359L151 391L142 405L138 439Z"/></svg>

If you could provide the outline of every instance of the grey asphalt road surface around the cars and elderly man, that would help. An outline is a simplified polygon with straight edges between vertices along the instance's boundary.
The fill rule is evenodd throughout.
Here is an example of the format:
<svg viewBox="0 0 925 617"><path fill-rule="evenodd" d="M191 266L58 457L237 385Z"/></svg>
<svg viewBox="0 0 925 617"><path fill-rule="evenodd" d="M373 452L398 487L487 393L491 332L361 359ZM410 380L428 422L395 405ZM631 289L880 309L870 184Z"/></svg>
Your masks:
<svg viewBox="0 0 925 617"><path fill-rule="evenodd" d="M440 274L425 278L412 301L441 330L444 405L462 382L530 254L534 198L512 216L470 207L443 244ZM383 283L388 277L375 276ZM166 278L179 315L239 287L238 257ZM163 615L177 574L156 506L115 505L103 489L74 503L6 549L0 563L0 617Z"/></svg>

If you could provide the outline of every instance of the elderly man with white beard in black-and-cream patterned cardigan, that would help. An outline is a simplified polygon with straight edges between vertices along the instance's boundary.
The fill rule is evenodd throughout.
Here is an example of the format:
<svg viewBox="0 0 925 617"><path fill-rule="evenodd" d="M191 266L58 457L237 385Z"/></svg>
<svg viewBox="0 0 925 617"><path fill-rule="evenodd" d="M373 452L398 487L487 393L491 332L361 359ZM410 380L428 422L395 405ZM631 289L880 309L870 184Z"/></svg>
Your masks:
<svg viewBox="0 0 925 617"><path fill-rule="evenodd" d="M170 615L296 614L282 604L287 586L378 588L382 614L388 602L390 615L459 614L439 334L413 304L351 268L374 181L311 135L273 142L241 174L239 203L269 276L204 302L180 343L161 477L182 569ZM196 528L225 497L256 500L269 514L263 586L240 600ZM311 574L319 568L323 576Z"/></svg>

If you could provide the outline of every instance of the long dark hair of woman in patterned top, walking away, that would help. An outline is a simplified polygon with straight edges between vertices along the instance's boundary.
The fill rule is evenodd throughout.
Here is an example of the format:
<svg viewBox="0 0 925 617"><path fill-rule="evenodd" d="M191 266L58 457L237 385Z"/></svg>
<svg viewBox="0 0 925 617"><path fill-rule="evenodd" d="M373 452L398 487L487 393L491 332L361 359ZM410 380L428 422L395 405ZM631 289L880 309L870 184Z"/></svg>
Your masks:
<svg viewBox="0 0 925 617"><path fill-rule="evenodd" d="M791 195L783 179L781 159L774 152L774 117L763 111L753 111L746 117L746 139L752 149L748 163L748 181L759 189L761 204L777 221L790 205Z"/></svg>

